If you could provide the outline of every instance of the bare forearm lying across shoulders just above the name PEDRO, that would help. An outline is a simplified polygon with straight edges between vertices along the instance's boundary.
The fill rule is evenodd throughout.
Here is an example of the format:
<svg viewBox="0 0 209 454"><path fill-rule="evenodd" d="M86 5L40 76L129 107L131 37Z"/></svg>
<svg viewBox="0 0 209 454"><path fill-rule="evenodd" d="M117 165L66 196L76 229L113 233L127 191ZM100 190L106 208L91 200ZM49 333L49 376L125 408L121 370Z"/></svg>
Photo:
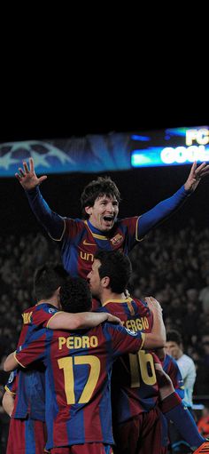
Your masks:
<svg viewBox="0 0 209 454"><path fill-rule="evenodd" d="M81 312L79 314L68 314L58 312L50 318L47 328L50 330L82 330L94 328L103 322L121 324L120 318L106 312Z"/></svg>

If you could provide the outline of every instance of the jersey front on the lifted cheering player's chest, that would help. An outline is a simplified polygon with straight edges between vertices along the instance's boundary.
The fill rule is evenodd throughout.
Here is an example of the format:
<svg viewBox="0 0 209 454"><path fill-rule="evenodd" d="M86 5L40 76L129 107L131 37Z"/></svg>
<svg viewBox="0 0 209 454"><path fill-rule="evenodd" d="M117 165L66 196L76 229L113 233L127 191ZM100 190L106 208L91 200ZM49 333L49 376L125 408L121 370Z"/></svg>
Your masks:
<svg viewBox="0 0 209 454"><path fill-rule="evenodd" d="M100 230L89 223L89 220L66 218L62 239L62 261L66 271L72 277L79 275L86 278L98 250L120 249L128 254L139 241L138 219L135 217L118 220L111 232L104 236L101 235Z"/></svg>

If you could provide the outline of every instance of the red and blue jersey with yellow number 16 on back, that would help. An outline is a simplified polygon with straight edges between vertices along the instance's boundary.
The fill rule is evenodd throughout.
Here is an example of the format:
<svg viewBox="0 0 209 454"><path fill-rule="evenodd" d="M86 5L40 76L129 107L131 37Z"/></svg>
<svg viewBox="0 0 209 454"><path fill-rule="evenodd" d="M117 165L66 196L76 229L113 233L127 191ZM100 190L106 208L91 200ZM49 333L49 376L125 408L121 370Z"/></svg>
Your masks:
<svg viewBox="0 0 209 454"><path fill-rule="evenodd" d="M98 309L117 315L128 329L151 332L153 315L146 302L139 299L108 300ZM112 371L112 409L116 423L153 409L159 399L159 386L154 363L160 363L152 352L121 357Z"/></svg>

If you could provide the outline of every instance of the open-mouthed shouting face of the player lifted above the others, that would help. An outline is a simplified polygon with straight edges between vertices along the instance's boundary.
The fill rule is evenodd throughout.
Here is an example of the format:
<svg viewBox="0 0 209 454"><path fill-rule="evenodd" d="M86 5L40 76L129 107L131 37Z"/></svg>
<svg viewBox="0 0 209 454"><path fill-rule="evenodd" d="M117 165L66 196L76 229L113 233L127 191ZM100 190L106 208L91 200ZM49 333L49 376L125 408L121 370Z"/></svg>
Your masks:
<svg viewBox="0 0 209 454"><path fill-rule="evenodd" d="M109 232L118 216L119 203L115 197L103 195L97 197L93 206L86 206L85 211L89 214L92 226L102 232Z"/></svg>

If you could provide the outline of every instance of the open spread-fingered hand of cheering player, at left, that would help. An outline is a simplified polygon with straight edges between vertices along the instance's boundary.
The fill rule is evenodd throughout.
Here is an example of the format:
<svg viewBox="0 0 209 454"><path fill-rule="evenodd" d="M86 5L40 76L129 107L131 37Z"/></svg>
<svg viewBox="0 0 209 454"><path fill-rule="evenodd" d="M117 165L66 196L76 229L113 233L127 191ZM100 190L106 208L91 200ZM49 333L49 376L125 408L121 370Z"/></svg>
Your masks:
<svg viewBox="0 0 209 454"><path fill-rule="evenodd" d="M41 185L44 179L47 179L46 175L38 178L35 174L34 160L32 157L29 158L29 169L27 162L23 161L23 169L19 167L19 173L15 173L15 177L19 180L20 185L26 190L34 189L36 186Z"/></svg>

